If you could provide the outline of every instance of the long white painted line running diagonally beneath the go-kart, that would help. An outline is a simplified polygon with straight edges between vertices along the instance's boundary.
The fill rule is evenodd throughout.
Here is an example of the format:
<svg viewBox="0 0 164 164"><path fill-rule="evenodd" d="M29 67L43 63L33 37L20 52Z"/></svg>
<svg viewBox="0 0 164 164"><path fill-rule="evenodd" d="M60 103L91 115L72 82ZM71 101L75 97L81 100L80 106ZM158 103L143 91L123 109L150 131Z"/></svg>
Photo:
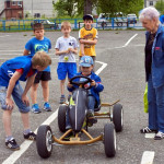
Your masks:
<svg viewBox="0 0 164 164"><path fill-rule="evenodd" d="M102 67L95 72L96 74L99 74L103 69L107 67L107 63L102 61L96 61L102 65ZM57 118L58 109L52 113L42 125L50 125L56 118ZM37 133L37 129L34 131ZM20 147L21 149L19 151L13 152L5 161L3 161L2 164L14 164L21 155L30 148L30 145L33 143L33 141L25 140Z"/></svg>

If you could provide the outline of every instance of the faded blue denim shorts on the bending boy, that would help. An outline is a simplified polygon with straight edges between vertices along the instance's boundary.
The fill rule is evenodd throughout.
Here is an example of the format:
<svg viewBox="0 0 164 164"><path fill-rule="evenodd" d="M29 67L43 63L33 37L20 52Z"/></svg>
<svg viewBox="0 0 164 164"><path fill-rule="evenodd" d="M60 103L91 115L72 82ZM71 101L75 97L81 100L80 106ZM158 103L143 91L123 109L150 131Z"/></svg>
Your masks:
<svg viewBox="0 0 164 164"><path fill-rule="evenodd" d="M22 86L20 84L16 84L13 89L12 97L15 104L17 105L20 113L28 113L31 108L30 106L26 106L22 102L22 94L23 94ZM5 97L7 97L7 86L0 86L0 104L1 108L4 110L7 110Z"/></svg>

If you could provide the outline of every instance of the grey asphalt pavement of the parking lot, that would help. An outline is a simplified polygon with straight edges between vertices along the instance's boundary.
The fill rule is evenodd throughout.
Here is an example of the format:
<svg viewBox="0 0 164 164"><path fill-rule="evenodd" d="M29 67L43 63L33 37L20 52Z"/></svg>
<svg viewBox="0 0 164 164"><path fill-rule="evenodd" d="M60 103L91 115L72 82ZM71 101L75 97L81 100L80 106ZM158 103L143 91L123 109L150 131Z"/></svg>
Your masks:
<svg viewBox="0 0 164 164"><path fill-rule="evenodd" d="M78 38L78 32L72 32L72 36ZM59 107L59 81L57 78L58 58L55 56L55 43L60 32L46 32L47 37L52 43L50 57L52 58L51 75L49 82L50 97L49 102L52 112L42 112L40 114L31 113L32 130L37 129L45 120L50 121L52 132L56 137L61 133L58 129L56 110ZM7 59L23 54L25 43L33 37L32 32L22 33L0 33L0 63ZM24 143L21 150L26 147L24 152L17 151L13 153L4 147L4 130L2 119L0 119L0 163L15 164L139 164L142 154L145 151L155 153L154 164L164 163L163 157L163 140L155 141L145 139L144 134L139 132L140 128L148 125L148 114L143 113L143 92L145 86L144 77L144 31L99 31L98 42L96 45L96 67L99 70L104 63L107 66L99 71L99 77L104 84L104 91L101 94L102 102L113 103L120 99L124 107L124 130L117 133L117 151L116 156L108 159L104 152L103 142L93 145L54 145L52 154L49 159L43 160L38 156L36 144L24 143L23 126L20 113L15 107L12 114L13 136L19 144ZM78 56L77 56L78 59ZM24 85L24 83L22 83ZM68 95L67 91L66 94ZM38 90L38 104L43 108L42 87ZM107 108L102 108L107 110ZM0 118L2 112L0 113ZM50 117L50 118L49 118ZM48 119L48 120L47 120ZM93 137L104 131L104 125L109 120L99 120L89 131ZM30 147L27 144L30 143ZM15 160L16 159L16 160ZM13 161L15 162L13 162Z"/></svg>

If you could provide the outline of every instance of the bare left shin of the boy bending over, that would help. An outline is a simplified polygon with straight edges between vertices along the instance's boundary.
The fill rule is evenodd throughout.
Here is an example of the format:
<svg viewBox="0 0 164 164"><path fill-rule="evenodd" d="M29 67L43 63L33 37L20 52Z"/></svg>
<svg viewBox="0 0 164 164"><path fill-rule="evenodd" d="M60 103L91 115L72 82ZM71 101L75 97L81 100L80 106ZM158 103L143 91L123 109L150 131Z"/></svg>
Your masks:
<svg viewBox="0 0 164 164"><path fill-rule="evenodd" d="M12 136L11 134L11 114L12 114L12 110L3 110L2 120L3 120L3 127L4 127L7 137Z"/></svg>

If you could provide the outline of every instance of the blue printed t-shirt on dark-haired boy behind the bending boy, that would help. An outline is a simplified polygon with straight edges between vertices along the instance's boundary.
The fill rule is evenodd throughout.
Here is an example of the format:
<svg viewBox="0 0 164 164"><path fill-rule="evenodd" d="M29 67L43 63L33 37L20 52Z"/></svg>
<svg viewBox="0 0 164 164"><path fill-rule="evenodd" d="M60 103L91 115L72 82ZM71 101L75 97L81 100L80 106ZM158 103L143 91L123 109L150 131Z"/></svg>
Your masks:
<svg viewBox="0 0 164 164"><path fill-rule="evenodd" d="M44 37L42 40L33 37L26 43L25 49L30 50L32 56L34 56L37 51L46 51L48 54L48 50L51 49L51 43L47 37ZM44 71L50 72L50 67L48 66Z"/></svg>

